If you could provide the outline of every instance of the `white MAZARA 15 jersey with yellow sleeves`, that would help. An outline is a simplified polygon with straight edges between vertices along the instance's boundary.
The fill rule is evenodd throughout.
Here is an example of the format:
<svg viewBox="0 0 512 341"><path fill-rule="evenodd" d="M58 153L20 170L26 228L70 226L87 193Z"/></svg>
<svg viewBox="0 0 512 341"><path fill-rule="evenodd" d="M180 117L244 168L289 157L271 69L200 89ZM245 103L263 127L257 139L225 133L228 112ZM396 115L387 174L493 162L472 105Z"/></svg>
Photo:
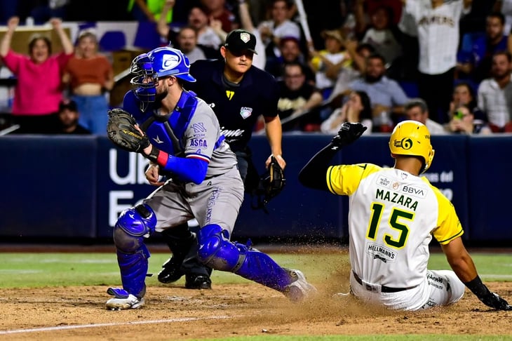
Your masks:
<svg viewBox="0 0 512 341"><path fill-rule="evenodd" d="M419 285L432 236L445 244L464 233L452 203L424 177L359 163L330 166L327 184L349 196L351 267L368 283Z"/></svg>

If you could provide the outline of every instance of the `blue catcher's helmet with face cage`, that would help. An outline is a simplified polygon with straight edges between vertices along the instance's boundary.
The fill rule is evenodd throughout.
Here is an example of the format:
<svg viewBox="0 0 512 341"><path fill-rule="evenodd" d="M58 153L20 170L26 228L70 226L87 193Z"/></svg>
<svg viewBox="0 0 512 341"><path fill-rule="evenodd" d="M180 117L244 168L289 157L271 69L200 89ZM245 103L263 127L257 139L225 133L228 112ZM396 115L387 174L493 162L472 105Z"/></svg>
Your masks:
<svg viewBox="0 0 512 341"><path fill-rule="evenodd" d="M189 74L189 69L189 58L182 51L170 46L137 55L130 66L130 73L135 75L130 83L135 97L141 102L140 109L144 111L149 103L155 101L159 78L175 76L184 81L196 81Z"/></svg>

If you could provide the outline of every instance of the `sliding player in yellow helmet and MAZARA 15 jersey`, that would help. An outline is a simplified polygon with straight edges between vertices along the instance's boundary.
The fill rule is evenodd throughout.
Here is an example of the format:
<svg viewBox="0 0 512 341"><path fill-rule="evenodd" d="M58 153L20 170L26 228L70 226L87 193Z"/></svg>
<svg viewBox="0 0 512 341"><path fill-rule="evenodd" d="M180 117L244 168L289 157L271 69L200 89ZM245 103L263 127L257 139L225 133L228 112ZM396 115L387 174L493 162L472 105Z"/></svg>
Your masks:
<svg viewBox="0 0 512 341"><path fill-rule="evenodd" d="M403 121L394 128L389 140L393 168L329 166L337 151L365 130L361 123L343 123L299 173L306 187L350 196L351 293L390 309L419 310L457 302L466 286L488 307L512 310L480 280L452 203L419 177L434 155L424 124ZM432 236L453 271L426 268Z"/></svg>

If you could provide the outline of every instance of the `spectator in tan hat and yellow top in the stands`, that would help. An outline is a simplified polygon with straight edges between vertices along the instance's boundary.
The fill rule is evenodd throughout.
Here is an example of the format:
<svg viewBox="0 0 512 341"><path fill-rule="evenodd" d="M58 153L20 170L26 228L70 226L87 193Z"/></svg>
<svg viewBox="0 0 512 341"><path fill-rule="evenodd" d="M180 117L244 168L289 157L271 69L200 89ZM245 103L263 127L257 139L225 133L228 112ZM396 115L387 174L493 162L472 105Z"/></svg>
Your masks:
<svg viewBox="0 0 512 341"><path fill-rule="evenodd" d="M351 57L344 48L344 39L337 29L322 32L325 50L311 49L311 69L316 73L316 87L322 91L324 99L329 98L339 70L351 65Z"/></svg>

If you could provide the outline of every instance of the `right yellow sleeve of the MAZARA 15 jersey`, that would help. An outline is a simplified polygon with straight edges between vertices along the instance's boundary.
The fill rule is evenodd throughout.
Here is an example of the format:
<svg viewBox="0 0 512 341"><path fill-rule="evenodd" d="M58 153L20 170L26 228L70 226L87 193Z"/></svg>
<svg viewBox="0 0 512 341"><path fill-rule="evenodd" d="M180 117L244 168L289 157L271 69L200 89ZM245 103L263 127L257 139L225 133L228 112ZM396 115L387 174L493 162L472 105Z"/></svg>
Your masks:
<svg viewBox="0 0 512 341"><path fill-rule="evenodd" d="M457 217L453 204L438 189L434 189L438 199L438 228L434 229L433 237L441 244L450 243L453 239L462 236L464 230Z"/></svg>

